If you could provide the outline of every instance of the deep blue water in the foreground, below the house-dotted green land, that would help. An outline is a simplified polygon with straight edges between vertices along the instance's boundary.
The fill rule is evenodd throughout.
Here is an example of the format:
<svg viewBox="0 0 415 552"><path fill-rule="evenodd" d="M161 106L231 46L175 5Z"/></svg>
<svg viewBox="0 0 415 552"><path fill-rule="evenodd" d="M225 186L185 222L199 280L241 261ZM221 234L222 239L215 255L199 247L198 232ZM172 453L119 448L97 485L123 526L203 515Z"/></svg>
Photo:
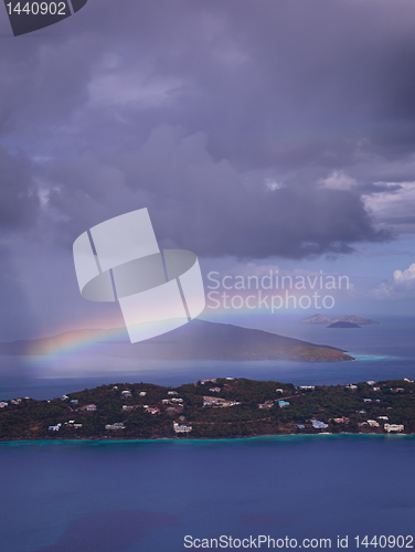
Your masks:
<svg viewBox="0 0 415 552"><path fill-rule="evenodd" d="M0 550L175 552L185 535L258 534L349 535L354 550L355 535L414 532L414 457L413 436L1 444Z"/></svg>

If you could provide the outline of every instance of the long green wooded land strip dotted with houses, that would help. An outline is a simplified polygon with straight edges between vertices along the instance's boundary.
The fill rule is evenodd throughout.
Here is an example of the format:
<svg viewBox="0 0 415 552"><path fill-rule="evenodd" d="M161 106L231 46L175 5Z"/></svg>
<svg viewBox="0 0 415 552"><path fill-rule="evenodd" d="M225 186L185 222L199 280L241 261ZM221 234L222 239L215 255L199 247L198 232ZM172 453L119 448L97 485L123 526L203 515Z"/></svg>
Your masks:
<svg viewBox="0 0 415 552"><path fill-rule="evenodd" d="M116 383L51 401L0 402L0 439L227 438L415 433L411 380L348 385L209 378L178 388Z"/></svg>

